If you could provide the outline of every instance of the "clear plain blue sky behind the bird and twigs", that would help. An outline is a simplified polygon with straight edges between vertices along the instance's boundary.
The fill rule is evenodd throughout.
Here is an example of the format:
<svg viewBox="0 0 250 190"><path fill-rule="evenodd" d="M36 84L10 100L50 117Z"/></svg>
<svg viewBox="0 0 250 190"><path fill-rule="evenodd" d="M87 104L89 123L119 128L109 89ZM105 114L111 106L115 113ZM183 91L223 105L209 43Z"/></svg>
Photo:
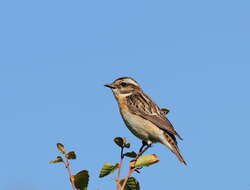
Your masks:
<svg viewBox="0 0 250 190"><path fill-rule="evenodd" d="M180 164L156 144L160 163L135 174L143 190L250 188L250 1L12 0L0 2L0 189L71 189L63 142L90 171L90 189L118 161L125 127L103 84L132 76L184 137ZM126 170L127 171L127 170ZM125 171L123 171L125 172Z"/></svg>

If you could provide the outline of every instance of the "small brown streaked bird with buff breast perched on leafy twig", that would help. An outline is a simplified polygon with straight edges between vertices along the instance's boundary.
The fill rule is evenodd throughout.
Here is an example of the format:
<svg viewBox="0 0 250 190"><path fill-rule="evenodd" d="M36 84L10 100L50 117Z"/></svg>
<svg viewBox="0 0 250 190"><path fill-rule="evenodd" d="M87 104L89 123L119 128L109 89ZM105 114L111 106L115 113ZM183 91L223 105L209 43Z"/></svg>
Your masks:
<svg viewBox="0 0 250 190"><path fill-rule="evenodd" d="M161 143L168 147L181 163L187 165L176 140L176 137L180 140L182 137L159 106L143 92L136 80L132 77L120 77L104 86L112 90L125 125L142 140L143 146L150 147L153 143Z"/></svg>

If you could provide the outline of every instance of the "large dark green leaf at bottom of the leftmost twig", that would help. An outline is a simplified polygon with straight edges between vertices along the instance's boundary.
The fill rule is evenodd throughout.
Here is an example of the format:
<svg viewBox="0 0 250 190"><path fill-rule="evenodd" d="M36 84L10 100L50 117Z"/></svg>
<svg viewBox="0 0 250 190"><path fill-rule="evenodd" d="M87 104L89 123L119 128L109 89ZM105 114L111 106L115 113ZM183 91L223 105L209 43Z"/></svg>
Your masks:
<svg viewBox="0 0 250 190"><path fill-rule="evenodd" d="M76 175L71 176L70 180L75 184L77 189L87 190L89 183L89 173L87 170L82 170Z"/></svg>

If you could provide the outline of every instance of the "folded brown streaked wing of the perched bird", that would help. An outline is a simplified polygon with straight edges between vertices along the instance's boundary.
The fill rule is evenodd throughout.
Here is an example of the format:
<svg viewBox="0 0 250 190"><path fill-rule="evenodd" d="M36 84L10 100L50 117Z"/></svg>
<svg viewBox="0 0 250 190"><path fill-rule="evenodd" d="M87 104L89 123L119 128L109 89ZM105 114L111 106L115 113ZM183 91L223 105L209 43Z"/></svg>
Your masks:
<svg viewBox="0 0 250 190"><path fill-rule="evenodd" d="M160 108L147 95L135 93L127 96L127 105L132 113L151 121L160 129L176 135L182 140Z"/></svg>

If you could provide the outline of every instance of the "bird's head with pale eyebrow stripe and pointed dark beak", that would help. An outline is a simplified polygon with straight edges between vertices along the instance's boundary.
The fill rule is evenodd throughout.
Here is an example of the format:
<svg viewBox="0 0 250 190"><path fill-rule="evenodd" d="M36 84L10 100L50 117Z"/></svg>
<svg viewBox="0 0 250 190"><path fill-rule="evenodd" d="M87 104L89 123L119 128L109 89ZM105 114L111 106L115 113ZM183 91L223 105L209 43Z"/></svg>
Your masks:
<svg viewBox="0 0 250 190"><path fill-rule="evenodd" d="M104 86L111 88L115 96L129 96L136 90L140 90L140 85L131 77L121 77Z"/></svg>

